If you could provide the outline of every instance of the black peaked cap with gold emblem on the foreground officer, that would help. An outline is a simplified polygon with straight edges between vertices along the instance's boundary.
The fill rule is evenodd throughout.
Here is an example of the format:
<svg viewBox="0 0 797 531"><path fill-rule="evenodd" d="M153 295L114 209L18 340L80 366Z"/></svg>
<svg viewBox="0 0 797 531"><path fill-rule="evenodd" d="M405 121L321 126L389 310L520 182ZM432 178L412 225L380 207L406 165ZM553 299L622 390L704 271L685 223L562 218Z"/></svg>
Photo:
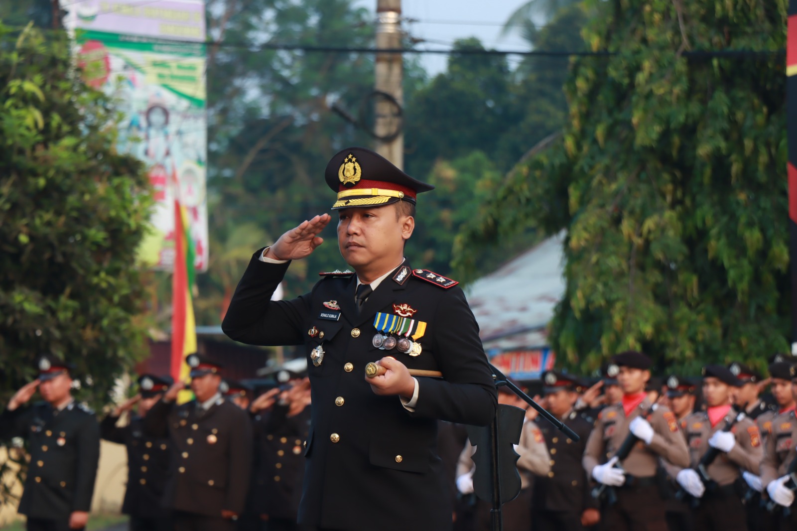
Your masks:
<svg viewBox="0 0 797 531"><path fill-rule="evenodd" d="M346 148L332 156L324 179L338 200L332 210L375 207L398 201L415 203L418 194L434 190L406 175L391 161L366 148Z"/></svg>

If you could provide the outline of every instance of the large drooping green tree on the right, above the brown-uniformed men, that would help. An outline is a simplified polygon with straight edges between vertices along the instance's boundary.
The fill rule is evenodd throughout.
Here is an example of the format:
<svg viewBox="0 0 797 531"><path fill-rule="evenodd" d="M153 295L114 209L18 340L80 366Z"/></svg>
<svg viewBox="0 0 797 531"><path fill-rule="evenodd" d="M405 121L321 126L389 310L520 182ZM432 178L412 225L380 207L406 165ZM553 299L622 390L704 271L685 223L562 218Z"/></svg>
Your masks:
<svg viewBox="0 0 797 531"><path fill-rule="evenodd" d="M567 230L559 360L625 348L696 371L787 348L786 2L589 2L611 57L575 61L559 140L521 163L467 246ZM689 56L689 50L760 55ZM769 53L769 55L767 55Z"/></svg>

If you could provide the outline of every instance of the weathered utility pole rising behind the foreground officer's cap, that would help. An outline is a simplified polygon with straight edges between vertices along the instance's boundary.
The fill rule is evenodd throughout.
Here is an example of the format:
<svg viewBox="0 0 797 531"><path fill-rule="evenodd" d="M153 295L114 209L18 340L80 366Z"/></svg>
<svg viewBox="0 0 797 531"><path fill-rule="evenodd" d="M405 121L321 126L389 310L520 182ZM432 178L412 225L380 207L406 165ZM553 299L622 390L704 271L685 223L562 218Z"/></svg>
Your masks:
<svg viewBox="0 0 797 531"><path fill-rule="evenodd" d="M377 0L376 16L376 47L401 48L401 0ZM376 54L374 133L379 140L376 140L375 151L400 169L404 167L404 133L400 130L403 70L401 53Z"/></svg>

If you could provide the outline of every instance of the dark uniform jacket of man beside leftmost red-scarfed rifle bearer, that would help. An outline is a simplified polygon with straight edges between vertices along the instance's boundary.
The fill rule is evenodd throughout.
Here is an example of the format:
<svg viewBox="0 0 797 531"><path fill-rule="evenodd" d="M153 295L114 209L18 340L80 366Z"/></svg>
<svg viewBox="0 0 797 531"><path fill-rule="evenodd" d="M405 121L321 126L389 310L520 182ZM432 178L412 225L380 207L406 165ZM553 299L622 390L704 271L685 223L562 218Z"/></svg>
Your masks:
<svg viewBox="0 0 797 531"><path fill-rule="evenodd" d="M579 516L586 509L599 509L591 494L587 471L581 465L595 420L576 411L560 419L575 431L580 440L576 443L556 430L550 423L540 423L548 453L551 454L551 471L535 479L532 507L540 511L565 511Z"/></svg>

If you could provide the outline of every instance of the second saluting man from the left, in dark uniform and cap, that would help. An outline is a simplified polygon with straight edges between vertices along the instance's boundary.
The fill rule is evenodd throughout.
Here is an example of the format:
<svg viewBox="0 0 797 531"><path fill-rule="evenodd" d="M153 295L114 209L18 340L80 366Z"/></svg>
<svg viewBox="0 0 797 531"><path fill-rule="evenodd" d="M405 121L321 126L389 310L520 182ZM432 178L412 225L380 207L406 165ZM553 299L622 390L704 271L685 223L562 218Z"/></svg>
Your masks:
<svg viewBox="0 0 797 531"><path fill-rule="evenodd" d="M163 486L169 470L169 447L165 437L144 433L143 417L174 383L171 376L139 376L139 393L116 407L100 423L106 441L124 444L128 450L128 487L122 513L130 515L130 531L171 531L171 513L163 508ZM125 426L116 426L122 414L138 404L138 413Z"/></svg>

